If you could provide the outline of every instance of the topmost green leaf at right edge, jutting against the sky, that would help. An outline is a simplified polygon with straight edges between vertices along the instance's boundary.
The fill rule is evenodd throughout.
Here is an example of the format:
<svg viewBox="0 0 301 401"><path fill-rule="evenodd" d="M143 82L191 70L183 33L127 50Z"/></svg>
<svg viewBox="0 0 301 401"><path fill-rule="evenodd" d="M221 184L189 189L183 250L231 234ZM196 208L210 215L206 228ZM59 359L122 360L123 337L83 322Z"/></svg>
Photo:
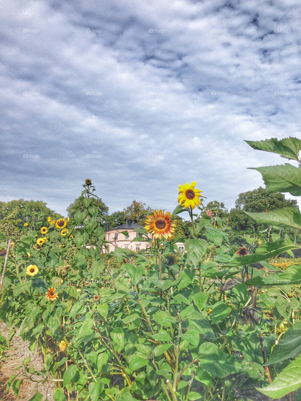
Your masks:
<svg viewBox="0 0 301 401"><path fill-rule="evenodd" d="M301 150L301 140L293 137L278 140L277 138L266 139L264 141L245 141L253 149L265 150L279 154L291 160L299 161L298 154Z"/></svg>

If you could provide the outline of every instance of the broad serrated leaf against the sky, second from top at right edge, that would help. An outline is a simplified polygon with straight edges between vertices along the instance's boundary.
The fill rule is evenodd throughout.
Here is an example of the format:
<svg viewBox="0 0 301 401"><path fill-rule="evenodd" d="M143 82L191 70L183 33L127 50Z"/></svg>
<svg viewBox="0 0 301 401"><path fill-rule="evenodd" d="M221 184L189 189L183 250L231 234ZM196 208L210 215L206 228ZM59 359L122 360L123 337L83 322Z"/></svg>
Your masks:
<svg viewBox="0 0 301 401"><path fill-rule="evenodd" d="M301 196L301 168L285 163L279 166L250 167L262 174L268 192L289 192Z"/></svg>

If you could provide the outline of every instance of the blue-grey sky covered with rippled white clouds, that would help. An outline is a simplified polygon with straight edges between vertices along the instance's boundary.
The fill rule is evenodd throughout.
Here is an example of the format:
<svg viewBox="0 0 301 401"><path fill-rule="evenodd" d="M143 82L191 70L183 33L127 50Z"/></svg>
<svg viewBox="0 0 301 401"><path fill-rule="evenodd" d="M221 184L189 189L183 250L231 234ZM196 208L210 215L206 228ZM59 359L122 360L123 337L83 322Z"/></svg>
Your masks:
<svg viewBox="0 0 301 401"><path fill-rule="evenodd" d="M174 209L197 182L231 208L300 138L299 0L2 0L1 201L65 214L90 178L110 208ZM288 196L289 197L289 196Z"/></svg>

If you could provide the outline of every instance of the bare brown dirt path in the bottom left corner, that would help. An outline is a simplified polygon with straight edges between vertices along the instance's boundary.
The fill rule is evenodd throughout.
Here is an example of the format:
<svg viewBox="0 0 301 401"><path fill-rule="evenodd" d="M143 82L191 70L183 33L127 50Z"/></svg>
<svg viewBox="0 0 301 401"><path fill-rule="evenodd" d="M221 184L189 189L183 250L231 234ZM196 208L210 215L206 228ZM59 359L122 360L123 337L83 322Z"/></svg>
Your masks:
<svg viewBox="0 0 301 401"><path fill-rule="evenodd" d="M10 329L6 327L3 322L0 322L0 334L5 338L8 338ZM43 366L43 356L38 350L31 352L27 347L27 342L24 342L22 338L14 335L10 342L10 348L4 351L3 361L0 363L0 400L1 401L28 401L35 395L36 391L43 394L43 400L47 398L48 401L53 401L53 388L47 383L33 383L27 379L23 381L20 387L18 397L15 398L12 390L5 394L6 382L11 375L16 375L17 373L22 373L22 368L15 371L14 369L22 365L22 361L29 354L31 354L31 363L36 370L40 370ZM23 377L20 377L23 379ZM41 377L38 378L38 380Z"/></svg>

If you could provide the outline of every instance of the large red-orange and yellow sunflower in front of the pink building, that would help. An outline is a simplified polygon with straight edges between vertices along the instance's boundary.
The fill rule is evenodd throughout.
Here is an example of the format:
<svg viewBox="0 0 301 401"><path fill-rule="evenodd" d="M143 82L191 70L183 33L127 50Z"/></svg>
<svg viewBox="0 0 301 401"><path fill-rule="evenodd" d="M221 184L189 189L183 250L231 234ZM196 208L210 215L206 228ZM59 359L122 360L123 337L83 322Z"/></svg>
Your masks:
<svg viewBox="0 0 301 401"><path fill-rule="evenodd" d="M169 239L175 233L175 223L171 219L171 214L164 212L165 210L153 210L153 214L146 217L144 228L147 233L153 234L155 238Z"/></svg>

